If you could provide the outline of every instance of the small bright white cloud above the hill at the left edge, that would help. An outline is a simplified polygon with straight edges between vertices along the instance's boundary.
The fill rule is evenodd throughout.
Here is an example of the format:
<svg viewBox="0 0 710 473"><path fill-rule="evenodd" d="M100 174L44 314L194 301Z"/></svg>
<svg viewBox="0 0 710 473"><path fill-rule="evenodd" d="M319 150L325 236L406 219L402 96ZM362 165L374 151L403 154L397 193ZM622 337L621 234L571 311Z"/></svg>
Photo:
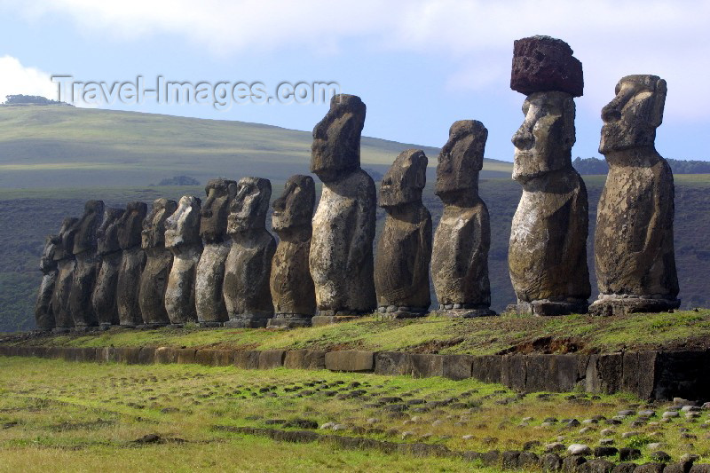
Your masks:
<svg viewBox="0 0 710 473"><path fill-rule="evenodd" d="M22 66L20 60L12 56L0 57L0 77L0 102L4 102L5 96L15 94L57 98L57 87L51 83L49 74Z"/></svg>

